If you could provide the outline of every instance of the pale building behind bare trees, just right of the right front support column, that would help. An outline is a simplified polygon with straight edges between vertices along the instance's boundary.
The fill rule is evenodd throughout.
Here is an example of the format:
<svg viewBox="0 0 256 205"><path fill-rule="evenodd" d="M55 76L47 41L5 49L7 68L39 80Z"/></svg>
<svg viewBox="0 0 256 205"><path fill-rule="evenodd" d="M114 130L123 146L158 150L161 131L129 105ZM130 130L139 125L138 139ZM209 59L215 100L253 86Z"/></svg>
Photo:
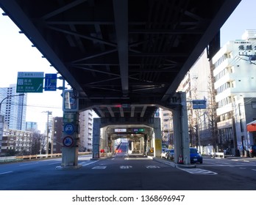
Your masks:
<svg viewBox="0 0 256 205"><path fill-rule="evenodd" d="M185 92L187 97L190 146L196 146L202 153L206 152L202 148L203 146L216 146L213 133L214 125L210 124L212 83L210 62L205 49L187 72L178 88L178 91ZM193 108L193 101L197 100L198 102L205 101L205 108Z"/></svg>

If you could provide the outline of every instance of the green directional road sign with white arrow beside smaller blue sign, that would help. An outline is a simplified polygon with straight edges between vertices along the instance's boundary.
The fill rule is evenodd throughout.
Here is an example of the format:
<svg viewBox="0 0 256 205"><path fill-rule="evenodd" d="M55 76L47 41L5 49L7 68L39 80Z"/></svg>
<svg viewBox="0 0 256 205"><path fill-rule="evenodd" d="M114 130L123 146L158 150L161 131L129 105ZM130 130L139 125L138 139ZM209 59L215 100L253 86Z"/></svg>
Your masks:
<svg viewBox="0 0 256 205"><path fill-rule="evenodd" d="M43 72L18 72L16 92L43 92Z"/></svg>

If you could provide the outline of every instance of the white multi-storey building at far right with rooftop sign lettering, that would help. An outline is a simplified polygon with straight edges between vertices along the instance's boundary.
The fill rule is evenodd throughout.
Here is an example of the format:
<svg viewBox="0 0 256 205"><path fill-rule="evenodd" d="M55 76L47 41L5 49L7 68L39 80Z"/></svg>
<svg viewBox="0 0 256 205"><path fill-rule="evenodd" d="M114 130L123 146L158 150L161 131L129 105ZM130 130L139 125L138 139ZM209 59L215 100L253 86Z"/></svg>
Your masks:
<svg viewBox="0 0 256 205"><path fill-rule="evenodd" d="M246 124L256 119L255 52L256 30L246 30L241 40L227 42L212 59L219 142L233 154L256 144L255 132L246 130Z"/></svg>

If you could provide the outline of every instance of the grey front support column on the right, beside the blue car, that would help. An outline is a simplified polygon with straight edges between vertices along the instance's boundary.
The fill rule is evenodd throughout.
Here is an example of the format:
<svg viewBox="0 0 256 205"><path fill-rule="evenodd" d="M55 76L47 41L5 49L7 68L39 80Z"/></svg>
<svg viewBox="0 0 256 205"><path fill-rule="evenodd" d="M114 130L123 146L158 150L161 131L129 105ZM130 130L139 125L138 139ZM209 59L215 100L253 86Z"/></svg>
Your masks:
<svg viewBox="0 0 256 205"><path fill-rule="evenodd" d="M181 99L180 106L174 111L174 162L179 163L179 157L185 165L191 163L189 152L189 138L188 138L188 111L186 103L186 95L184 92L179 92Z"/></svg>

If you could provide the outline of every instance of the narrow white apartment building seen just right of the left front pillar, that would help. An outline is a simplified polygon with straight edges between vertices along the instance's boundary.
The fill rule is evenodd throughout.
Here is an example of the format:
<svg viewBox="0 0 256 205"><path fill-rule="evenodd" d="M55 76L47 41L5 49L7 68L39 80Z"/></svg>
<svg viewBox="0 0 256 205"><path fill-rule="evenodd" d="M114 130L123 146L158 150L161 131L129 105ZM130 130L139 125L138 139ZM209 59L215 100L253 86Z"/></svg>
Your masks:
<svg viewBox="0 0 256 205"><path fill-rule="evenodd" d="M93 149L93 111L87 110L79 113L79 152Z"/></svg>

